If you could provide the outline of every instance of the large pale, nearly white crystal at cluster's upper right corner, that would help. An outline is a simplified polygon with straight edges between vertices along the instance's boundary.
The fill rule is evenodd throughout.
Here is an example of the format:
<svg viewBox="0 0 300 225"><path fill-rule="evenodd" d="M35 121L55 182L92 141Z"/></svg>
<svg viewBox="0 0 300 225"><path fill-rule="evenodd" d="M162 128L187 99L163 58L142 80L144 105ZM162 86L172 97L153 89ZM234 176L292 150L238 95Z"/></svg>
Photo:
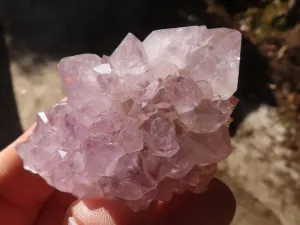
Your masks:
<svg viewBox="0 0 300 225"><path fill-rule="evenodd" d="M214 95L228 99L237 89L241 34L227 28L205 26L153 31L143 45L149 63L169 61L193 73L196 81L208 81Z"/></svg>

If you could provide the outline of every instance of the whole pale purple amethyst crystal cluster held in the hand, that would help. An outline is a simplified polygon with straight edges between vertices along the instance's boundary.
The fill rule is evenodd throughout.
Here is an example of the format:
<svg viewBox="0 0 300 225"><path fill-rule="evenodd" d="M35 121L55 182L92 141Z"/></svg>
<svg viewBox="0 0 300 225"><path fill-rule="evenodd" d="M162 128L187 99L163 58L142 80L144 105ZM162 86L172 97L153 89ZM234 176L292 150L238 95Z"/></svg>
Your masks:
<svg viewBox="0 0 300 225"><path fill-rule="evenodd" d="M79 198L131 209L204 191L231 151L241 34L191 26L128 34L113 54L58 64L67 101L39 112L24 167Z"/></svg>

